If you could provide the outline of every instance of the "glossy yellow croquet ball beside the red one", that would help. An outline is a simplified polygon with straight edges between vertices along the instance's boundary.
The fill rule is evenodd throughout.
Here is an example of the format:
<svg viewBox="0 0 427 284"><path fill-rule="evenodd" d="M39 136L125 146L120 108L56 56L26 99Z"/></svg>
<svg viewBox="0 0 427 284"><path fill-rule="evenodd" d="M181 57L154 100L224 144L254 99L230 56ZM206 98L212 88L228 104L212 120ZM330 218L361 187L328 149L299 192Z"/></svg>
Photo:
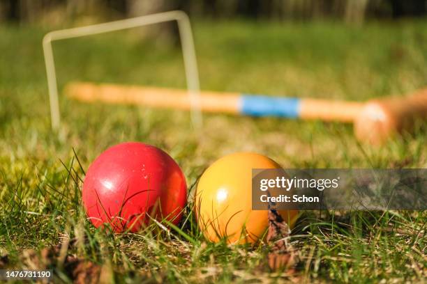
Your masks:
<svg viewBox="0 0 427 284"><path fill-rule="evenodd" d="M204 236L232 244L255 243L268 228L268 211L252 210L252 169L280 168L263 155L241 152L215 161L197 184L195 210ZM297 210L279 211L290 228Z"/></svg>

